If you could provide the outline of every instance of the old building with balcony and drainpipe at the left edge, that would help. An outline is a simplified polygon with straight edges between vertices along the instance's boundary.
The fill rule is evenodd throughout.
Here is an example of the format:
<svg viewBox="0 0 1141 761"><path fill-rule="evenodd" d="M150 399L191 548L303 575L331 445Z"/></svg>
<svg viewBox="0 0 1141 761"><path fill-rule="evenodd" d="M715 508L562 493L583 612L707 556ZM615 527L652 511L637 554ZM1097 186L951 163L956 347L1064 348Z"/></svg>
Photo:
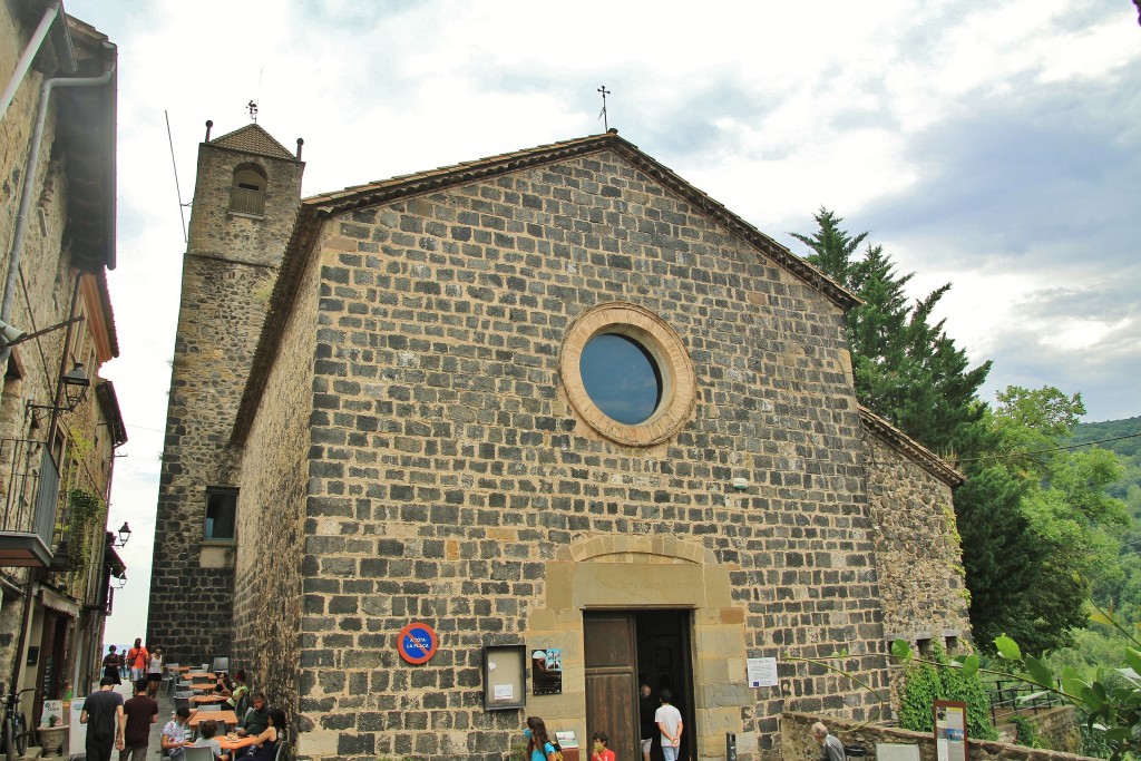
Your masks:
<svg viewBox="0 0 1141 761"><path fill-rule="evenodd" d="M58 2L0 0L0 683L42 701L97 677L114 578L106 529L127 435L99 369L119 356L116 50Z"/></svg>

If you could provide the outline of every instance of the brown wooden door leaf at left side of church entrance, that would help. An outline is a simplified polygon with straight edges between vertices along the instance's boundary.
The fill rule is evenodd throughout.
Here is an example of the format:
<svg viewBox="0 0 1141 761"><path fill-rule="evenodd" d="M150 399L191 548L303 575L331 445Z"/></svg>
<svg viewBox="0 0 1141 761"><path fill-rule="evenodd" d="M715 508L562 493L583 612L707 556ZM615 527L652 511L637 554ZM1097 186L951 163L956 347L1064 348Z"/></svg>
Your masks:
<svg viewBox="0 0 1141 761"><path fill-rule="evenodd" d="M586 667L586 737L578 744L589 758L590 736L604 731L618 759L640 759L638 743L638 653L630 613L583 613Z"/></svg>

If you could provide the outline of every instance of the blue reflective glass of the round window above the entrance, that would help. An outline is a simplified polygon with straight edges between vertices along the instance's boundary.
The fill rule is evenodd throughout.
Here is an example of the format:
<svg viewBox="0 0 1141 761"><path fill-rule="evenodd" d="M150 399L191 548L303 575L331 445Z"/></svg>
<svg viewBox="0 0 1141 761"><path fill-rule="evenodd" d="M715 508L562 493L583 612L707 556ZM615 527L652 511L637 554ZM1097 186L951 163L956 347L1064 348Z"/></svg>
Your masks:
<svg viewBox="0 0 1141 761"><path fill-rule="evenodd" d="M646 347L628 335L602 333L586 341L578 373L590 400L620 423L644 423L662 403L662 371Z"/></svg>

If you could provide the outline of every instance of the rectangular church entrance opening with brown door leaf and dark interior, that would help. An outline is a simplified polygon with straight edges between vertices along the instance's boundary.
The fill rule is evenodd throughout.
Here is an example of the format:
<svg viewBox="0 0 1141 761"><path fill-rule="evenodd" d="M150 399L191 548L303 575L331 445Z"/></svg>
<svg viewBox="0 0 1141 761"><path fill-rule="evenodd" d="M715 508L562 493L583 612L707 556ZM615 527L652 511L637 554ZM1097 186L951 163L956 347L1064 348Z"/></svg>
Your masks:
<svg viewBox="0 0 1141 761"><path fill-rule="evenodd" d="M639 686L645 681L655 706L663 688L673 695L685 724L678 758L696 761L690 622L689 610L583 613L588 748L590 735L602 730L617 758L641 760ZM659 761L659 732L653 736L650 759Z"/></svg>

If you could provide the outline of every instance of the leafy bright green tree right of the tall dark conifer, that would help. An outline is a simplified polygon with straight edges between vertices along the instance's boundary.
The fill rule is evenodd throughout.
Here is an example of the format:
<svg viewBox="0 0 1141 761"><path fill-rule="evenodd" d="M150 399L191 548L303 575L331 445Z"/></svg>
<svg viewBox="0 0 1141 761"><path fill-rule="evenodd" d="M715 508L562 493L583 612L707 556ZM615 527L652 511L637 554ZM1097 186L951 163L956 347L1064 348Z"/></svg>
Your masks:
<svg viewBox="0 0 1141 761"><path fill-rule="evenodd" d="M1060 448L1083 414L1081 395L1012 386L964 436L985 453L962 463L969 480L955 494L977 641L1067 646L1094 585L1120 575L1130 516L1104 491L1120 465L1104 450Z"/></svg>

